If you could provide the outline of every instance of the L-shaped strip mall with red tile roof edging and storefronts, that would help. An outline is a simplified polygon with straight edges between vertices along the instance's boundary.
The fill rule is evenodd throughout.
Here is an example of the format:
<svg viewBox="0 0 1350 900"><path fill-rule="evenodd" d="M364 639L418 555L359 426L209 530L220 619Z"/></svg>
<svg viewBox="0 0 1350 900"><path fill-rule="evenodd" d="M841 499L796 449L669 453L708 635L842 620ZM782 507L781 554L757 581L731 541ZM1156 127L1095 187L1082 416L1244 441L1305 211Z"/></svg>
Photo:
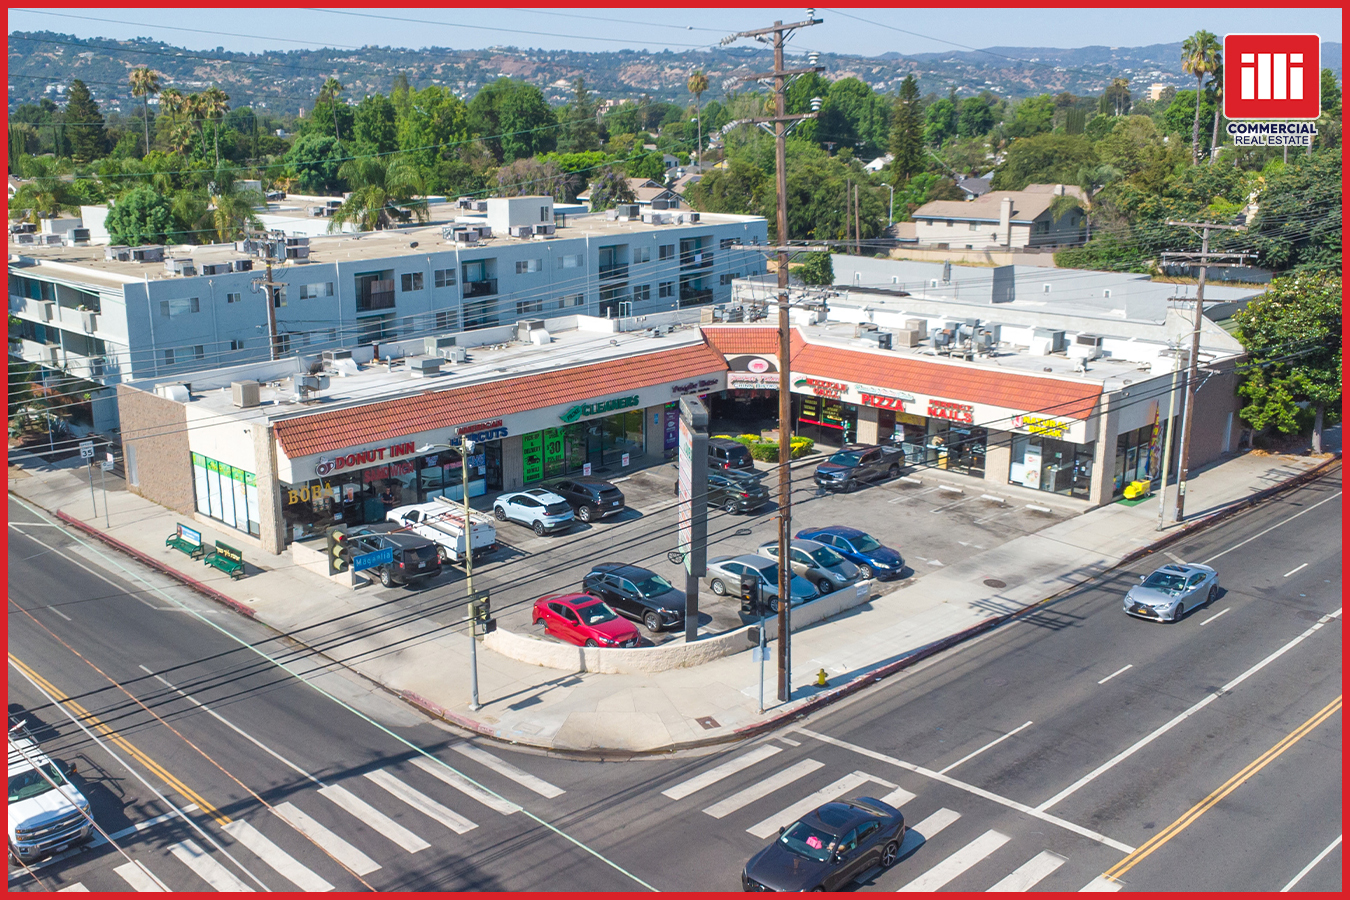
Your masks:
<svg viewBox="0 0 1350 900"><path fill-rule="evenodd" d="M282 553L335 522L459 497L459 453L418 448L474 440L471 497L586 471L613 478L674 457L680 397L705 397L714 425L776 405L776 328L698 314L466 332L455 336L462 360L408 341L382 345L392 364L364 347L130 382L119 386L128 487ZM1095 506L1156 479L1169 410L1180 422L1170 358L1142 364L1122 352L1080 371L1066 355L1025 352L1007 329L1008 349L969 359L882 349L857 333L838 322L792 329L794 429L824 445L894 440L915 467ZM1157 359L1158 347L1145 355ZM1211 356L1192 466L1227 452L1237 433L1238 355Z"/></svg>

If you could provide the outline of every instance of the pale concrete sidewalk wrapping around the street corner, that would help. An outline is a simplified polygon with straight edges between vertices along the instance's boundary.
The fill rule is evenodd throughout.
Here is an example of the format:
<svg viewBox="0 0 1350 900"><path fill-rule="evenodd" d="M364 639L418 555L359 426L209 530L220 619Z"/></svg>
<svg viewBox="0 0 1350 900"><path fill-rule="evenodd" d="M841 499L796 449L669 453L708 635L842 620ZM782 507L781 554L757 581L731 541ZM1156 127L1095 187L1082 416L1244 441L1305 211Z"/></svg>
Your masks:
<svg viewBox="0 0 1350 900"><path fill-rule="evenodd" d="M1339 460L1339 429L1328 437ZM794 633L792 700L783 704L775 699L771 656L765 665L768 708L761 714L760 664L752 661L748 644L734 656L652 675L563 672L518 663L479 645L482 708L470 711L466 631L409 615L381 600L377 591L342 588L293 565L289 555L267 557L259 568L259 555L246 552L248 576L231 582L165 548L165 536L180 521L190 524L188 517L128 491L109 490L111 526L105 526L101 493L94 515L78 461L46 466L30 455L11 453L9 493L53 514L59 511L77 528L124 546L450 722L552 750L629 753L716 743L775 727L994 627L1133 559L1158 540L1174 540L1199 522L1242 509L1262 491L1338 464L1246 453L1192 475L1184 526L1156 530L1156 497L1134 506L1112 503L905 587L879 583L868 603ZM230 541L225 529L193 526L202 532L202 540ZM821 668L829 676L825 688L815 687Z"/></svg>

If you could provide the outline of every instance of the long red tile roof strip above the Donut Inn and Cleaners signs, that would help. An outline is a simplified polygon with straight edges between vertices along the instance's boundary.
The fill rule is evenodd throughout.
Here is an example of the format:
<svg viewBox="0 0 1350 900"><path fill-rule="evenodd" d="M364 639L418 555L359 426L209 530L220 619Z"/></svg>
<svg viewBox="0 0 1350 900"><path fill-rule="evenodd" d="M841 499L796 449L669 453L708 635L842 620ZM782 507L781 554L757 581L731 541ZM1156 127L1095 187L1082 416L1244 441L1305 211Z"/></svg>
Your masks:
<svg viewBox="0 0 1350 900"><path fill-rule="evenodd" d="M662 382L725 371L706 344L606 360L539 375L505 378L451 390L429 390L350 409L297 416L275 424L277 440L296 459L344 447L375 444L454 425L543 409Z"/></svg>

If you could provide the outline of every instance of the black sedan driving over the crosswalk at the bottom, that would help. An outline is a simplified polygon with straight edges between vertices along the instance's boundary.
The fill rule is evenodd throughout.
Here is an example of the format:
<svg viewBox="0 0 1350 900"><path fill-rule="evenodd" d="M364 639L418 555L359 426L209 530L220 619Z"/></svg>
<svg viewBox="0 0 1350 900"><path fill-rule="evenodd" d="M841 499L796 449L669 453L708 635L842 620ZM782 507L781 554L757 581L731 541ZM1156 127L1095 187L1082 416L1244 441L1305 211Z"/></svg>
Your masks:
<svg viewBox="0 0 1350 900"><path fill-rule="evenodd" d="M745 864L745 891L838 891L900 855L905 814L872 797L832 801L779 828Z"/></svg>

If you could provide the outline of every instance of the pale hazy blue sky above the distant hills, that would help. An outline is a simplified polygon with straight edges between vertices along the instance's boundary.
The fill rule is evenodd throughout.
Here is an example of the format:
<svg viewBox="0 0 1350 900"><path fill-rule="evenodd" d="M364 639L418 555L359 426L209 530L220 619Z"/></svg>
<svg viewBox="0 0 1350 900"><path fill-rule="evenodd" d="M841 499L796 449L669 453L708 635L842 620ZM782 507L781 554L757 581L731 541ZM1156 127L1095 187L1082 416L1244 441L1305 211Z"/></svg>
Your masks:
<svg viewBox="0 0 1350 900"><path fill-rule="evenodd" d="M896 9L817 8L825 23L803 28L791 47L875 55L1013 47L1134 47L1181 40L1199 28L1220 38L1241 32L1312 32L1341 40L1341 9L1057 8ZM726 34L805 18L796 7L724 9L490 8L418 9L364 5L351 11L248 8L9 9L11 31L59 31L82 38L148 36L192 50L304 47L491 46L545 50L687 50ZM863 22L865 20L865 22ZM269 36L263 36L263 35ZM275 36L270 36L275 35ZM737 46L753 46L740 40Z"/></svg>

